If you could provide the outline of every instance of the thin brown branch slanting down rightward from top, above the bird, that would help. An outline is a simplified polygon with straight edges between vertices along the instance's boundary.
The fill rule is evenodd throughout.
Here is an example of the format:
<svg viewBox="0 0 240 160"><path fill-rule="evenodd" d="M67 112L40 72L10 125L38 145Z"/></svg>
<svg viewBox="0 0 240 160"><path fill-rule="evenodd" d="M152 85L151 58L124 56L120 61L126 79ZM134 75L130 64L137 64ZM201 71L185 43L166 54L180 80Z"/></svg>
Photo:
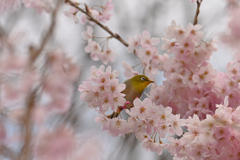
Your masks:
<svg viewBox="0 0 240 160"><path fill-rule="evenodd" d="M92 17L92 15L88 11L87 5L85 5L86 11L84 11L82 8L78 7L75 3L73 3L70 0L65 0L65 2L68 2L70 5L77 8L80 12L86 14L88 16L89 21L92 21L92 22L96 23L98 26L100 26L102 29L104 29L106 32L108 32L113 38L117 39L123 45L128 47L128 43L126 41L124 41L117 33L113 33L107 26L104 26L98 20L96 20L95 18Z"/></svg>

